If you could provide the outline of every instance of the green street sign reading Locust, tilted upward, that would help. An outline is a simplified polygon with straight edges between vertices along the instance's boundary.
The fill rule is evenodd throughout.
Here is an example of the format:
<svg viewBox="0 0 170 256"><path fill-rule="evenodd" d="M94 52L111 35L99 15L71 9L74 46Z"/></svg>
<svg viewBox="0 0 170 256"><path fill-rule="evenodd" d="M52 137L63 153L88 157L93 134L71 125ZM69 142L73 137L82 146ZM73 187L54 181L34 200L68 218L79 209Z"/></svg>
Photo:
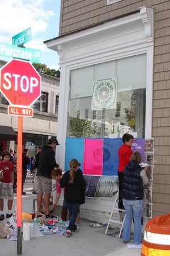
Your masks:
<svg viewBox="0 0 170 256"><path fill-rule="evenodd" d="M23 46L23 44L27 43L30 40L31 40L31 27L13 36L12 44L14 44L15 46Z"/></svg>

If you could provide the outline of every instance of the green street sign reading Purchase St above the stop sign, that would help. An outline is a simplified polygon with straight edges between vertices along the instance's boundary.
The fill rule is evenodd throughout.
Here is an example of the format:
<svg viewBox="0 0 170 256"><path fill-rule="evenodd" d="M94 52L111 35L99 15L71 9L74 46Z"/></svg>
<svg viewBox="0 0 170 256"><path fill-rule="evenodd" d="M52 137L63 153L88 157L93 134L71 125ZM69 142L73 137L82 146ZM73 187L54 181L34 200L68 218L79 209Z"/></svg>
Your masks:
<svg viewBox="0 0 170 256"><path fill-rule="evenodd" d="M0 42L0 56L40 63L41 51Z"/></svg>

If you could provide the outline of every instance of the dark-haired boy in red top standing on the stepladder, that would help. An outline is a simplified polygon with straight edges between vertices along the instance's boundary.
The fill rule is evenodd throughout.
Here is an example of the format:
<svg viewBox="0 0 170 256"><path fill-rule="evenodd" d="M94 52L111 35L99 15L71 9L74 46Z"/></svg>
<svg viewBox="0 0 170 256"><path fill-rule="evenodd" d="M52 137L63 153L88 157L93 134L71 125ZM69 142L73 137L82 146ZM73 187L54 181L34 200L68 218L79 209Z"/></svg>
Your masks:
<svg viewBox="0 0 170 256"><path fill-rule="evenodd" d="M129 163L131 154L131 145L133 143L133 135L125 133L122 137L122 146L118 150L118 208L125 209L122 202L122 189L123 189L123 178L124 178L124 169L126 164Z"/></svg>

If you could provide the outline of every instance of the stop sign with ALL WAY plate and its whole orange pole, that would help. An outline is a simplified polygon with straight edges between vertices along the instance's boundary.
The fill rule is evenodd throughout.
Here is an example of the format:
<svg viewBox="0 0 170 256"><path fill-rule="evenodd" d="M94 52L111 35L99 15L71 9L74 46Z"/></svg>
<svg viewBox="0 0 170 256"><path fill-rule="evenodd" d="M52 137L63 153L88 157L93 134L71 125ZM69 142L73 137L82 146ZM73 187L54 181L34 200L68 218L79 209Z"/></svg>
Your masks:
<svg viewBox="0 0 170 256"><path fill-rule="evenodd" d="M41 76L29 62L11 60L0 69L0 91L12 105L8 114L18 115L17 253L21 255L23 116L33 115L29 106L41 96Z"/></svg>

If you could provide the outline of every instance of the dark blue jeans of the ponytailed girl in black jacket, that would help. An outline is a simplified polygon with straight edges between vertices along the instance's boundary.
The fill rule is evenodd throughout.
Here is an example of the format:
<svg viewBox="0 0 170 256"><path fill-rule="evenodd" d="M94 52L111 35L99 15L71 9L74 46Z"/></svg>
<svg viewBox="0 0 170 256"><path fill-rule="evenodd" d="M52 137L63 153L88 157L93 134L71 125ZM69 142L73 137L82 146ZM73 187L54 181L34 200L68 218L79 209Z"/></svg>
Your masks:
<svg viewBox="0 0 170 256"><path fill-rule="evenodd" d="M69 210L69 226L67 230L70 229L71 231L76 230L75 220L79 210L79 203L66 203L67 209Z"/></svg>

